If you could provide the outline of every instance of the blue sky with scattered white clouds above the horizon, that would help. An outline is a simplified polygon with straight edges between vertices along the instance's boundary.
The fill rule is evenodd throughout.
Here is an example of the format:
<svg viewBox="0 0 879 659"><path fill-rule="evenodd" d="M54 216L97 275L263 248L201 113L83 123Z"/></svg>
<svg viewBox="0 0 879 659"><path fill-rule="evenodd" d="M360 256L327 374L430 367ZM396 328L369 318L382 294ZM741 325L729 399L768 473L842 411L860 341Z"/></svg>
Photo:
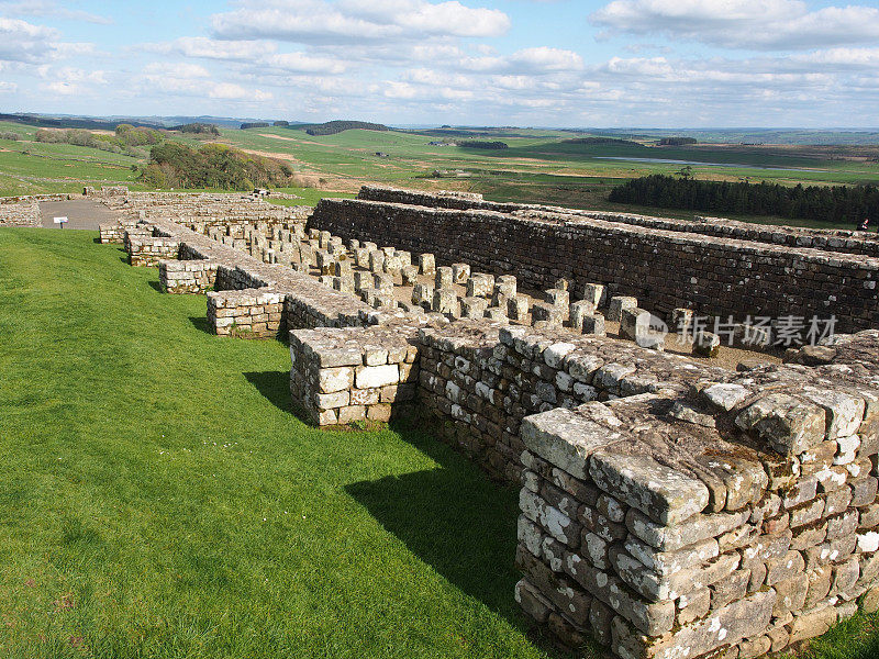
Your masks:
<svg viewBox="0 0 879 659"><path fill-rule="evenodd" d="M879 1L0 0L0 109L877 127Z"/></svg>

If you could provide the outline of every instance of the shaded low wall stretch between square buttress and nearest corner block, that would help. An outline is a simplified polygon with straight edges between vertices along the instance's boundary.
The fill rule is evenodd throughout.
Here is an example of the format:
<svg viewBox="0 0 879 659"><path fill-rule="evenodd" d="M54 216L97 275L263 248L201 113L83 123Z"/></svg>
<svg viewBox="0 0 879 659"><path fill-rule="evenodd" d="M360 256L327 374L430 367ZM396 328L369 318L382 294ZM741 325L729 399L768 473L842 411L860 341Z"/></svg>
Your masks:
<svg viewBox="0 0 879 659"><path fill-rule="evenodd" d="M520 482L522 418L653 391L682 393L726 371L616 339L459 321L420 333L423 409L493 478Z"/></svg>

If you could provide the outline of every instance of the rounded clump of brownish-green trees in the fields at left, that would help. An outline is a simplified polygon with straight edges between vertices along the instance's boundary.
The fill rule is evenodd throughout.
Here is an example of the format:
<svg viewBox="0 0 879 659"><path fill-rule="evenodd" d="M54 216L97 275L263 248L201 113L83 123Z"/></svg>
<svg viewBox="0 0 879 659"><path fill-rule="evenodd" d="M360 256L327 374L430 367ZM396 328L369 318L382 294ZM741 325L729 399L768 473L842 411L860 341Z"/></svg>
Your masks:
<svg viewBox="0 0 879 659"><path fill-rule="evenodd" d="M141 180L154 188L253 190L290 186L292 176L293 170L286 163L223 144L191 148L165 142L153 147Z"/></svg>

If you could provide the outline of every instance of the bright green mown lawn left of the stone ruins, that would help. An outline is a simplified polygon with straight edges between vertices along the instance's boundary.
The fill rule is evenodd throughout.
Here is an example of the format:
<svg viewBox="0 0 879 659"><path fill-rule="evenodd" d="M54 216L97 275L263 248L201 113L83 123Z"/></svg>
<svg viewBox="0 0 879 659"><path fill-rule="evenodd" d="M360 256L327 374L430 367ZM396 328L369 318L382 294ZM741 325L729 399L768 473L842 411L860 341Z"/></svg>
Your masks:
<svg viewBox="0 0 879 659"><path fill-rule="evenodd" d="M0 230L0 656L545 657L516 492L414 424L324 432L90 232Z"/></svg>

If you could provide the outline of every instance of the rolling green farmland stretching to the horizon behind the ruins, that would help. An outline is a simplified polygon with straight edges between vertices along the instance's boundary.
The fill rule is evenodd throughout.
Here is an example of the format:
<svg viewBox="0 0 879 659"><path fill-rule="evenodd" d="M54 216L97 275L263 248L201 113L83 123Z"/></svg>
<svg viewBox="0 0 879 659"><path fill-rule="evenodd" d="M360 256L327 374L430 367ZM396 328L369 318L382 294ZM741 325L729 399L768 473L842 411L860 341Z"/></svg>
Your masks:
<svg viewBox="0 0 879 659"><path fill-rule="evenodd" d="M120 182L132 189L145 189L135 171L145 165L143 160L87 147L33 142L36 132L33 126L0 122L0 133L4 131L16 132L22 139L0 139L0 194L74 192L82 183ZM735 132L698 134L700 139L749 137ZM577 144L571 141L582 137L581 134L535 129L491 129L469 134L509 144L509 148L501 150L429 144L450 143L461 135L457 130L420 133L349 130L312 136L294 127L272 126L245 131L221 129L219 141L288 161L297 171L298 189L305 190L302 197L310 204L332 193L355 193L361 185L374 182L480 192L493 201L692 217L692 212L613 204L608 202L607 196L611 188L628 178L674 175L687 164L699 179L767 180L791 186L879 183L879 144L809 146L705 142L677 147L657 146L657 139L650 136L610 144ZM766 135L779 141L786 135L791 139L800 136L795 132ZM822 135L817 134L815 139L825 138ZM843 133L835 135L841 141L847 138ZM168 133L168 138L188 145L200 143L180 133ZM772 224L849 227L781 217L733 217Z"/></svg>

